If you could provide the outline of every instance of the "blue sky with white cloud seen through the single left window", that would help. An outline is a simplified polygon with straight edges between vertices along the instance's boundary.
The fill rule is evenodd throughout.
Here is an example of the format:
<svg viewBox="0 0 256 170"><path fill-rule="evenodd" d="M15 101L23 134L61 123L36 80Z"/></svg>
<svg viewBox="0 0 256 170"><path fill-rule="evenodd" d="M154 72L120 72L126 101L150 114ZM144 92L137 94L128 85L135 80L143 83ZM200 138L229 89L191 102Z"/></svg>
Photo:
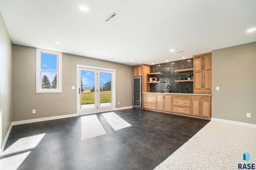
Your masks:
<svg viewBox="0 0 256 170"><path fill-rule="evenodd" d="M57 56L52 54L41 53L41 70L47 71L56 71L57 70ZM52 83L52 80L56 72L41 72L41 77L46 75L49 81Z"/></svg>

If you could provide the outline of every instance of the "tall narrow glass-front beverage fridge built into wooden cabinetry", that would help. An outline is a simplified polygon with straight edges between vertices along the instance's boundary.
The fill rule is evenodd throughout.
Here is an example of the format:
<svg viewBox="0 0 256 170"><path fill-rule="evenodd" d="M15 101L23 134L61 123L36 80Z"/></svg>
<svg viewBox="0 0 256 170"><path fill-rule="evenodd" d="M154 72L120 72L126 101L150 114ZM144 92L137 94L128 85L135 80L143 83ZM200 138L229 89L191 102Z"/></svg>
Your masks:
<svg viewBox="0 0 256 170"><path fill-rule="evenodd" d="M133 108L142 109L142 77L133 78Z"/></svg>

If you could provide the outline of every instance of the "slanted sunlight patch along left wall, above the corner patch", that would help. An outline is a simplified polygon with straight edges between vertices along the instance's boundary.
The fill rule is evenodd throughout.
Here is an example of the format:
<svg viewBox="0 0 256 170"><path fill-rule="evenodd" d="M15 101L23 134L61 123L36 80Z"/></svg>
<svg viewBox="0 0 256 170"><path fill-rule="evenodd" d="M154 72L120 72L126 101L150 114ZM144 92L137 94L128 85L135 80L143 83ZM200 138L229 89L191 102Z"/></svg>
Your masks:
<svg viewBox="0 0 256 170"><path fill-rule="evenodd" d="M2 155L5 156L8 154L14 154L17 152L22 152L24 150L33 149L42 140L44 135L45 133L40 135L21 138L18 141L16 141L14 144L12 144L10 147L8 147L6 150L4 150Z"/></svg>

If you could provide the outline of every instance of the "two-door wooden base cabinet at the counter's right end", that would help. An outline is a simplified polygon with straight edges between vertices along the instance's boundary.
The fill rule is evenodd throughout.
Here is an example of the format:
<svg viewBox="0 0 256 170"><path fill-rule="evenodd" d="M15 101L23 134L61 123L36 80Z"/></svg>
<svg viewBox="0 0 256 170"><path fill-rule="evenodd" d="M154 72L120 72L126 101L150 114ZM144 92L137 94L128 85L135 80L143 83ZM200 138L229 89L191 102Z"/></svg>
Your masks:
<svg viewBox="0 0 256 170"><path fill-rule="evenodd" d="M211 100L191 100L191 115L200 117L211 117Z"/></svg>

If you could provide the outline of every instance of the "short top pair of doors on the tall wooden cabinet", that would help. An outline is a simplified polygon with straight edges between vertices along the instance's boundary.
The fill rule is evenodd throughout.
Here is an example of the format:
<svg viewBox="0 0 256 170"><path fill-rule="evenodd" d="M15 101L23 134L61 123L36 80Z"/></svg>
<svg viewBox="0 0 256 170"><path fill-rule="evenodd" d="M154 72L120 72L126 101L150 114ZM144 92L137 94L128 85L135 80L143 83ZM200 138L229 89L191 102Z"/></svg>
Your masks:
<svg viewBox="0 0 256 170"><path fill-rule="evenodd" d="M212 70L212 53L193 55L194 72Z"/></svg>

